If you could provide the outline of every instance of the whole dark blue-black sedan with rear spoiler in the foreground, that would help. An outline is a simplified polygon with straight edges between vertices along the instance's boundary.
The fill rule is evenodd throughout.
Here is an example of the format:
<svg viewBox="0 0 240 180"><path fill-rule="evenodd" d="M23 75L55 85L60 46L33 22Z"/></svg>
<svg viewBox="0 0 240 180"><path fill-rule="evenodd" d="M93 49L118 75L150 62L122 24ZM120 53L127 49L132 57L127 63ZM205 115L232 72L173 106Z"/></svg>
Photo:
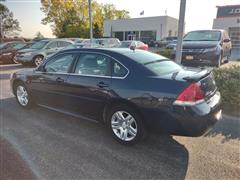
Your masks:
<svg viewBox="0 0 240 180"><path fill-rule="evenodd" d="M63 50L11 76L17 102L107 125L133 144L146 132L200 136L221 118L212 73L130 49Z"/></svg>

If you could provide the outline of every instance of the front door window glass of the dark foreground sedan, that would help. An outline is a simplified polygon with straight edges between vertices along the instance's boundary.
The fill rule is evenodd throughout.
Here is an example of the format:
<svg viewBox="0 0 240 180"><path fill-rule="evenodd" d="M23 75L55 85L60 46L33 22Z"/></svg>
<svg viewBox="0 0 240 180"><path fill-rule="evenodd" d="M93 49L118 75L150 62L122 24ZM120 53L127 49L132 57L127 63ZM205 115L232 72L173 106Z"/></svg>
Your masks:
<svg viewBox="0 0 240 180"><path fill-rule="evenodd" d="M45 65L46 72L52 73L68 73L71 64L73 63L75 55L64 54L51 59Z"/></svg>

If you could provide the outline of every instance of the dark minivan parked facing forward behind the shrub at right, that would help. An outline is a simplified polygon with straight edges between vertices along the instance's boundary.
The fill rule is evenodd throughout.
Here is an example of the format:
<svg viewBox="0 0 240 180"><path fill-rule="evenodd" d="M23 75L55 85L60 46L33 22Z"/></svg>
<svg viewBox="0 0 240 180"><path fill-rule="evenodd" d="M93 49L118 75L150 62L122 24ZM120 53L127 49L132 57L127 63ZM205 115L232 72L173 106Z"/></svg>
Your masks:
<svg viewBox="0 0 240 180"><path fill-rule="evenodd" d="M184 36L182 64L185 66L217 66L228 62L232 44L225 30L191 31ZM174 58L176 51L172 53Z"/></svg>

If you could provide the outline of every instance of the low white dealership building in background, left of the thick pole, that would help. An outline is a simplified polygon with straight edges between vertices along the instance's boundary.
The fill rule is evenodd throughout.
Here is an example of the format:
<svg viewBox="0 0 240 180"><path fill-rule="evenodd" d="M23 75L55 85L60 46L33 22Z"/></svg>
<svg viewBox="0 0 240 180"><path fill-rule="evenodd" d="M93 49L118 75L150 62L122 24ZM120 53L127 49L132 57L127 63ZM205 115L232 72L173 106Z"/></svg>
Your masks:
<svg viewBox="0 0 240 180"><path fill-rule="evenodd" d="M143 17L131 19L105 20L103 36L119 40L160 40L167 36L177 36L178 19L170 16Z"/></svg>

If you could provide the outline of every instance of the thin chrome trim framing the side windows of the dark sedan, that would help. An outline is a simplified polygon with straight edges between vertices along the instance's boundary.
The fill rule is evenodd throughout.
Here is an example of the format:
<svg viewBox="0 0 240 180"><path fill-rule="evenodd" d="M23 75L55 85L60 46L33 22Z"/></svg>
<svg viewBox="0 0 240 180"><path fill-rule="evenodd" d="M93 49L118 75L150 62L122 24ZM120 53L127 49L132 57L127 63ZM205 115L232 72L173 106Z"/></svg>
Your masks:
<svg viewBox="0 0 240 180"><path fill-rule="evenodd" d="M71 52L71 51L70 51ZM68 52L68 53L70 53ZM73 76L83 76L83 77L101 77L101 78L113 78L113 79L125 79L128 74L130 73L129 69L124 65L122 64L121 62L119 62L117 59L115 59L114 57L112 56L109 56L108 54L104 54L104 53L101 53L101 52L88 52L88 51L78 51L76 53L89 53L89 54L100 54L100 55L104 55L104 56L107 56L109 58L111 58L112 60L118 62L119 64L121 64L126 70L127 70L127 73L125 76L123 77L117 77L117 76L98 76L98 75L88 75L88 74L76 74L76 73L61 73L61 72L42 72L42 71L35 71L35 73L38 73L38 74L59 74L59 75L73 75ZM62 53L59 53L58 55L61 55L61 54L65 54L64 52ZM47 62L46 62L47 63ZM44 64L45 65L45 64Z"/></svg>

